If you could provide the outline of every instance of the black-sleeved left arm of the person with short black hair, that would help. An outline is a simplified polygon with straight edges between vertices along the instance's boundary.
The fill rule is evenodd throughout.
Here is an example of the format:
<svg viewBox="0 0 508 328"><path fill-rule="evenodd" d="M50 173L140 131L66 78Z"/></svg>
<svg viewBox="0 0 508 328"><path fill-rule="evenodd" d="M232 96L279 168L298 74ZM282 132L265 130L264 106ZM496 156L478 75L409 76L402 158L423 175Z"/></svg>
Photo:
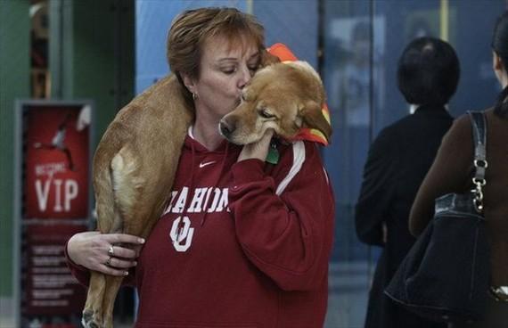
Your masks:
<svg viewBox="0 0 508 328"><path fill-rule="evenodd" d="M393 138L387 130L374 140L365 162L364 180L355 211L356 235L360 241L383 246L386 242L386 215L393 197L397 157Z"/></svg>

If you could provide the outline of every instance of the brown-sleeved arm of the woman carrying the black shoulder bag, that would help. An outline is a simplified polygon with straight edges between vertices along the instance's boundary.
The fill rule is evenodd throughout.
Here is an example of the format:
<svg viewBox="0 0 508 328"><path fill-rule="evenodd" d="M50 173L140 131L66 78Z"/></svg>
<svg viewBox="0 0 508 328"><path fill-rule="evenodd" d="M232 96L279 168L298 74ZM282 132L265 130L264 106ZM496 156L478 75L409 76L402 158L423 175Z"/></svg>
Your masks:
<svg viewBox="0 0 508 328"><path fill-rule="evenodd" d="M409 215L409 231L422 234L434 216L434 201L447 193L465 193L471 186L472 135L467 115L455 120L443 137L436 159L425 176Z"/></svg>

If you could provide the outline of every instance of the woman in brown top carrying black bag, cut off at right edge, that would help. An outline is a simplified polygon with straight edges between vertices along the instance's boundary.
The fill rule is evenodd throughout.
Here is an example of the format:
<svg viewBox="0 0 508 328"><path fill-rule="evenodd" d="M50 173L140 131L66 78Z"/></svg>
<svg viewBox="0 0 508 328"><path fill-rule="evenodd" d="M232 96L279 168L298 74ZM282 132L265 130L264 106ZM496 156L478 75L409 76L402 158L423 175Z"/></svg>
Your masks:
<svg viewBox="0 0 508 328"><path fill-rule="evenodd" d="M493 109L487 110L487 184L484 215L491 245L491 292L485 319L473 324L454 324L454 327L506 327L508 323L508 12L496 22L492 38L493 69L503 91ZM434 213L434 200L446 193L467 193L471 190L473 172L471 121L463 115L454 122L443 138L438 155L416 195L409 228L414 235L421 234ZM464 241L465 242L465 241ZM504 299L504 301L502 301Z"/></svg>

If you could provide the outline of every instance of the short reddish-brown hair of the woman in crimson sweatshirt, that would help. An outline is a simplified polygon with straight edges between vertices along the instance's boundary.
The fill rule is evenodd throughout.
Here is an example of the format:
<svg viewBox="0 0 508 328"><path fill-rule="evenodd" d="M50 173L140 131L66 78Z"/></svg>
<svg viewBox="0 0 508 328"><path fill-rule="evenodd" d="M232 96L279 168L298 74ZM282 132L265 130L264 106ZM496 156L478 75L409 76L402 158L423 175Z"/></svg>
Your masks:
<svg viewBox="0 0 508 328"><path fill-rule="evenodd" d="M231 44L242 43L247 37L265 48L265 29L248 13L236 8L199 8L182 12L171 24L168 33L168 63L176 77L184 86L181 74L199 78L202 48L210 37L227 37ZM184 87L184 96L192 99Z"/></svg>

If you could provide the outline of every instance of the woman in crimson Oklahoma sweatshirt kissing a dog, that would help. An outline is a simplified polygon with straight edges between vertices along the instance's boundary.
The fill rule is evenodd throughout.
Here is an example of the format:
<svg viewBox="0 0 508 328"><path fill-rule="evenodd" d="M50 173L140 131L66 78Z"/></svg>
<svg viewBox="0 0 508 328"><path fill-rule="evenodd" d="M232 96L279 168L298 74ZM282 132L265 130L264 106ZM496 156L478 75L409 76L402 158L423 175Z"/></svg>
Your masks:
<svg viewBox="0 0 508 328"><path fill-rule="evenodd" d="M258 69L263 28L232 8L184 12L168 37L172 71L193 99L171 200L143 243L83 233L67 245L80 282L87 270L125 275L139 292L136 327L319 327L324 323L334 201L313 143L282 144L272 131L240 147L218 132ZM303 156L303 157L302 157ZM300 168L293 158L305 159ZM277 186L289 182L282 193ZM104 266L114 245L111 266ZM135 267L135 268L134 268Z"/></svg>

